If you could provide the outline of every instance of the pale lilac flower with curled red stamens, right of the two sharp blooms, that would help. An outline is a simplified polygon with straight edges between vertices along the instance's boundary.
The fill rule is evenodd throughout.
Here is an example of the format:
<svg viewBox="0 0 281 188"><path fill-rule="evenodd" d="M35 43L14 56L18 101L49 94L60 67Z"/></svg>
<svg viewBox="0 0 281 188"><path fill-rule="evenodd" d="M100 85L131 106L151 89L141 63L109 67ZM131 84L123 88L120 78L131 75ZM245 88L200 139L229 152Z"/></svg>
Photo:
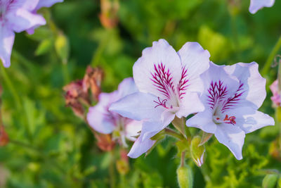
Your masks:
<svg viewBox="0 0 281 188"><path fill-rule="evenodd" d="M214 134L238 160L242 159L245 134L274 125L273 118L257 111L266 98L266 79L258 67L255 62L228 66L210 63L202 74L204 92L200 99L205 111L186 122L188 127Z"/></svg>

